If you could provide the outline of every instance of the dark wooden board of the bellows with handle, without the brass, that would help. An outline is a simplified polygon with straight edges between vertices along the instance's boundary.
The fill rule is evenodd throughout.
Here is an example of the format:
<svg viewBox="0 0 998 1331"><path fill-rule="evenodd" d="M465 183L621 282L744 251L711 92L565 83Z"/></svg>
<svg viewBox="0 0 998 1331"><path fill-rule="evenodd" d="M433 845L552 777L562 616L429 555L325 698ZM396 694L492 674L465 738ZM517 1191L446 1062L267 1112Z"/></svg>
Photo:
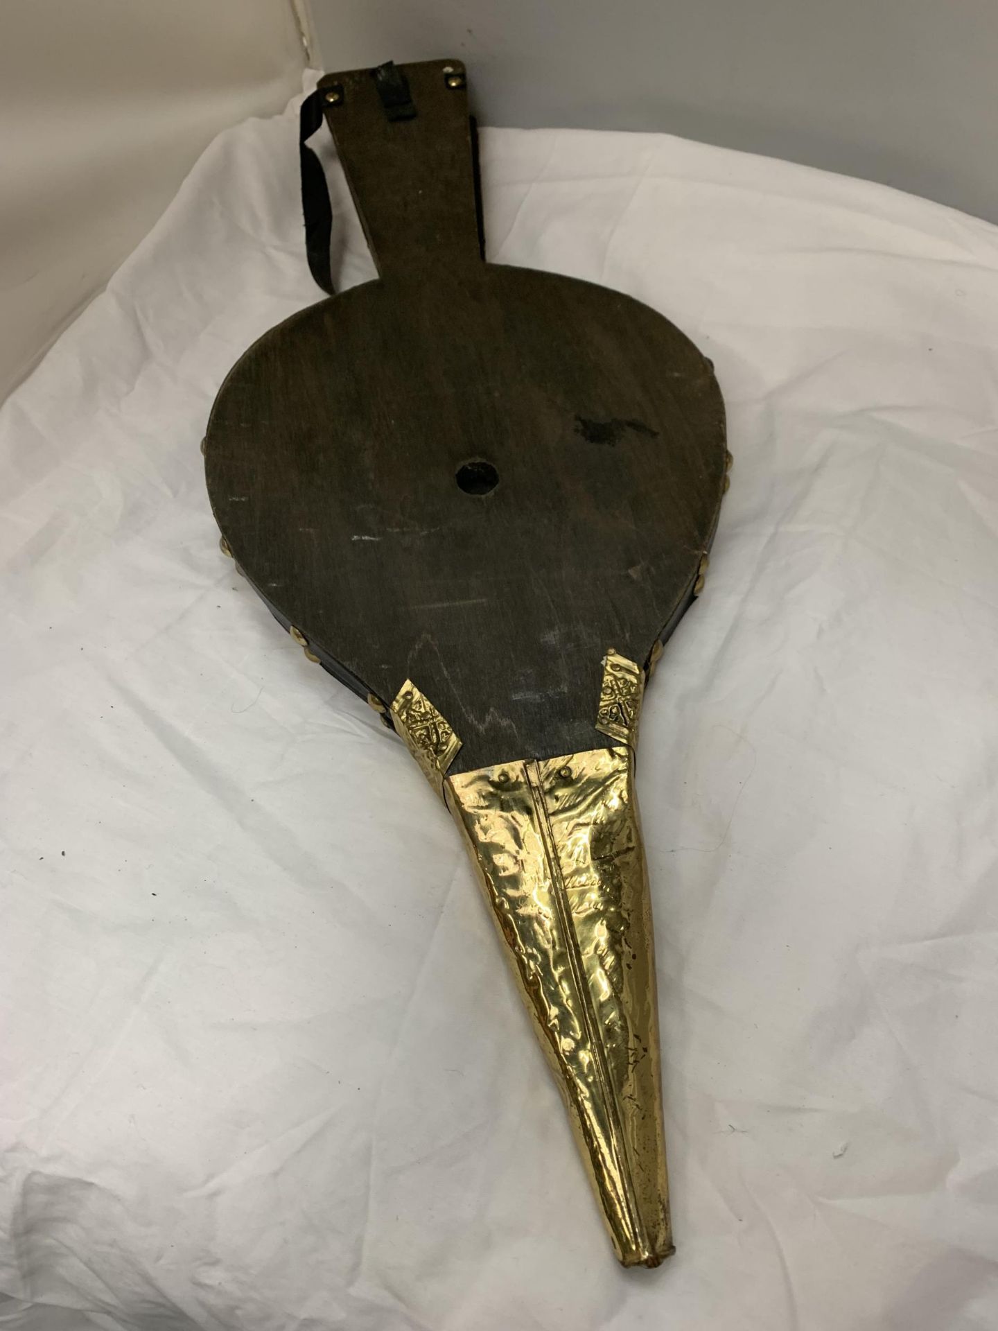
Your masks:
<svg viewBox="0 0 998 1331"><path fill-rule="evenodd" d="M365 214L373 201L382 276L244 355L212 413L206 474L278 618L362 695L389 703L411 677L463 740L454 771L468 771L607 744L593 728L603 654L645 662L689 603L725 431L711 363L660 314L482 261L466 113L451 124L444 98L434 122L420 92L427 69L444 89L443 64L407 67L423 118L402 128L418 126L409 158L423 134L426 162L451 165L403 170L365 141L358 112L345 157ZM354 76L333 77L350 96ZM367 110L390 140L399 126ZM370 153L394 164L407 206L393 212L398 189L378 184ZM475 462L498 474L487 494L460 488Z"/></svg>

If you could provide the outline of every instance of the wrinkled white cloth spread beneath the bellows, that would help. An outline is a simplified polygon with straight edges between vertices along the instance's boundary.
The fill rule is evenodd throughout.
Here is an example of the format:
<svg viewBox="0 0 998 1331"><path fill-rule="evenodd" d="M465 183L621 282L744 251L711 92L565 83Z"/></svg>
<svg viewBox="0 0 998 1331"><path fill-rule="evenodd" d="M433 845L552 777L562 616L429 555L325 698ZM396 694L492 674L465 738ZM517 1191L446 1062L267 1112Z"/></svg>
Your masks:
<svg viewBox="0 0 998 1331"><path fill-rule="evenodd" d="M671 315L735 454L643 724L679 1251L624 1272L443 808L218 552L213 395L321 294L295 134L3 410L0 1324L994 1328L998 230L483 136L491 258Z"/></svg>

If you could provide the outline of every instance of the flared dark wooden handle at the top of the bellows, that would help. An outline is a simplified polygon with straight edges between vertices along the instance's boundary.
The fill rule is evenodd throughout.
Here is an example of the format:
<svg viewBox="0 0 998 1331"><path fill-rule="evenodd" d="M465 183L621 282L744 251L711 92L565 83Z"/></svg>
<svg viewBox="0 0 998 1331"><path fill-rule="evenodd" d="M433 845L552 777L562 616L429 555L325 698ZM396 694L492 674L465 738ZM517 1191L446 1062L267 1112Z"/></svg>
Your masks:
<svg viewBox="0 0 998 1331"><path fill-rule="evenodd" d="M378 272L480 264L464 65L354 69L318 91Z"/></svg>

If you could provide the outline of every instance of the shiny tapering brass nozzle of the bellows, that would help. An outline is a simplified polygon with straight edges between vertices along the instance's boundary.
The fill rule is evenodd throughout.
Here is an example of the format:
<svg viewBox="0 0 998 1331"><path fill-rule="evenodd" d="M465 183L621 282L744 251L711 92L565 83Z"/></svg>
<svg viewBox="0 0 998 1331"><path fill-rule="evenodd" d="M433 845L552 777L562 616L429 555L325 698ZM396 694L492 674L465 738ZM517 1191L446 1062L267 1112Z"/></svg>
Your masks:
<svg viewBox="0 0 998 1331"><path fill-rule="evenodd" d="M446 780L444 799L562 1090L617 1256L624 1266L657 1266L673 1247L632 749L462 772Z"/></svg>

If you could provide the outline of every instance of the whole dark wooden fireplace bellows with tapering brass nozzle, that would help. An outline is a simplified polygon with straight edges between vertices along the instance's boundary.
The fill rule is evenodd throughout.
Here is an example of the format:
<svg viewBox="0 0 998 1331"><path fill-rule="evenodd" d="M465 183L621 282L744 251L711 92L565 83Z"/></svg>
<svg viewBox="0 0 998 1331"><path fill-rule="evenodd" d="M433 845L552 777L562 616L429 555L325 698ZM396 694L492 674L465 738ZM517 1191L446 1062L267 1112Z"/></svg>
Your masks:
<svg viewBox="0 0 998 1331"><path fill-rule="evenodd" d="M641 692L725 488L711 363L627 295L483 257L458 61L327 76L379 278L222 386L206 475L277 618L440 792L617 1254L671 1251Z"/></svg>

